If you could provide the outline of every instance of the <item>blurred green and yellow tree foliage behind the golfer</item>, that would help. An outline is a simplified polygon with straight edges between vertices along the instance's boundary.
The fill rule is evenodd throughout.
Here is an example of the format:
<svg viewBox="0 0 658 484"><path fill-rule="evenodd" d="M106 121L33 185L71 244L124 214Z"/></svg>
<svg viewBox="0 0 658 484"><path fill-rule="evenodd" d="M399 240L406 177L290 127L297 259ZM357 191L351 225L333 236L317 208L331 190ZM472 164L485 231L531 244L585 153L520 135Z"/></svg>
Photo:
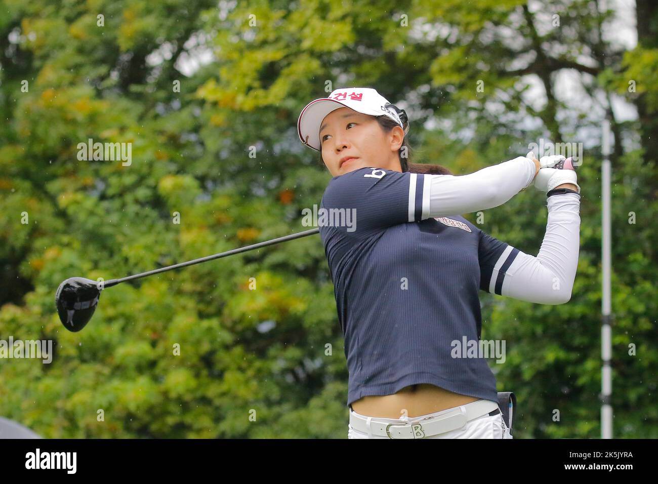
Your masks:
<svg viewBox="0 0 658 484"><path fill-rule="evenodd" d="M540 138L584 144L569 303L480 293L482 338L507 342L505 363L491 364L499 390L517 393L516 437L600 435L599 136L611 121L615 437L658 437L649 3L638 9L653 23L628 50L603 35L615 12L584 0L5 0L0 338L51 339L55 354L0 360L0 415L44 437L345 438L347 368L319 236L120 284L80 333L62 327L54 294L68 277L113 279L307 230L301 210L331 176L299 143L299 111L372 86L404 100L415 161L456 175ZM640 121L619 121L613 97ZM130 143L132 163L79 159L90 138ZM528 189L465 216L536 255L545 204Z"/></svg>

